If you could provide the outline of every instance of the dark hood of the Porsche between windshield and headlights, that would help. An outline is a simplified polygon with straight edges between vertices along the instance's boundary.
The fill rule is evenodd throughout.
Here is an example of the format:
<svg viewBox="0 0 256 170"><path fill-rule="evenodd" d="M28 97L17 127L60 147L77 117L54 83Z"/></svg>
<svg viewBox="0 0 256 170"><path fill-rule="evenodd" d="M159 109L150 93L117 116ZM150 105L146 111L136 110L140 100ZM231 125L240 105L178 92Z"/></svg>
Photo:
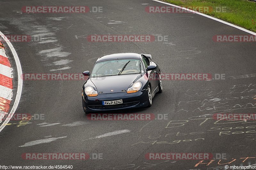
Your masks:
<svg viewBox="0 0 256 170"><path fill-rule="evenodd" d="M107 94L119 93L122 92L122 90L127 91L131 84L140 77L141 74L126 74L106 77L94 77L90 80L95 85L98 93L103 92L102 94Z"/></svg>

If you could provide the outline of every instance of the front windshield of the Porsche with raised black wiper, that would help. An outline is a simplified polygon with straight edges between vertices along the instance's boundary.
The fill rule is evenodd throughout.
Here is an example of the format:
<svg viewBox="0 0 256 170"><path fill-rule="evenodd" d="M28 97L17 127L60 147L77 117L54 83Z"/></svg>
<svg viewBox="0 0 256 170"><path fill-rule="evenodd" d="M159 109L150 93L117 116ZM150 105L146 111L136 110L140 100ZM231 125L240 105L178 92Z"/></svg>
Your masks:
<svg viewBox="0 0 256 170"><path fill-rule="evenodd" d="M139 59L118 59L101 61L94 65L92 77L144 73Z"/></svg>

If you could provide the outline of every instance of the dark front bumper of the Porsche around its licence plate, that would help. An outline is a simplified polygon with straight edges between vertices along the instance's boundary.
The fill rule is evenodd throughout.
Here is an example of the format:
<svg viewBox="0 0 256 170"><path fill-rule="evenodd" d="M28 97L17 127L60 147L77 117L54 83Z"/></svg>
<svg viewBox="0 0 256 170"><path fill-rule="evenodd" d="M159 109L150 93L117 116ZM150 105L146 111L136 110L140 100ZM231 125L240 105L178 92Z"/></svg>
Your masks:
<svg viewBox="0 0 256 170"><path fill-rule="evenodd" d="M102 101L112 101L119 99L123 100L122 104L102 105ZM86 112L140 108L148 106L148 91L144 89L131 94L127 94L126 92L98 94L96 97L89 97L84 95L83 100L85 103L84 109Z"/></svg>

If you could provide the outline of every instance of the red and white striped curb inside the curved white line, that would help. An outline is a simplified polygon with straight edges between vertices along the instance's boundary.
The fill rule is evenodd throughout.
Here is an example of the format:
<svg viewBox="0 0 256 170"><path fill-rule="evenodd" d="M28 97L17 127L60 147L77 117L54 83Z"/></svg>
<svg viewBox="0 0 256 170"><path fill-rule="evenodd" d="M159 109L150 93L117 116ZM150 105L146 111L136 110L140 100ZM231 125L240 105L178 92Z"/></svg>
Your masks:
<svg viewBox="0 0 256 170"><path fill-rule="evenodd" d="M0 41L0 123L9 112L12 89L12 67Z"/></svg>

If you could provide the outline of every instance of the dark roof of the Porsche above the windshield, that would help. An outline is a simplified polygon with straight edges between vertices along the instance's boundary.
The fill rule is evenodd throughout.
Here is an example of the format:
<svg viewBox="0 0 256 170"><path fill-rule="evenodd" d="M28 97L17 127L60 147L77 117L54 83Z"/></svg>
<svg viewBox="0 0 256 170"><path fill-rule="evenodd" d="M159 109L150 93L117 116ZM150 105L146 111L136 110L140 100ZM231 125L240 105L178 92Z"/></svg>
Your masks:
<svg viewBox="0 0 256 170"><path fill-rule="evenodd" d="M139 53L117 53L117 54L104 55L100 57L96 62L104 61L104 60L112 60L112 59L127 59L127 58L142 59L141 54Z"/></svg>

